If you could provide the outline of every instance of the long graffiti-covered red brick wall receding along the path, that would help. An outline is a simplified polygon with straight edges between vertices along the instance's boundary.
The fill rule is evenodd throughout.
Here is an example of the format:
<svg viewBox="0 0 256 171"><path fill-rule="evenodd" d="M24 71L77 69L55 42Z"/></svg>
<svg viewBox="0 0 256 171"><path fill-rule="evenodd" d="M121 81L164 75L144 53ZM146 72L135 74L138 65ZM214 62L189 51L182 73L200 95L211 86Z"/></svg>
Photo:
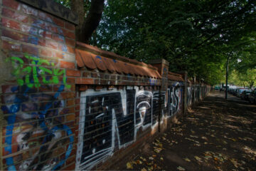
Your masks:
<svg viewBox="0 0 256 171"><path fill-rule="evenodd" d="M109 168L209 92L167 61L76 42L74 14L41 2L0 1L1 170Z"/></svg>

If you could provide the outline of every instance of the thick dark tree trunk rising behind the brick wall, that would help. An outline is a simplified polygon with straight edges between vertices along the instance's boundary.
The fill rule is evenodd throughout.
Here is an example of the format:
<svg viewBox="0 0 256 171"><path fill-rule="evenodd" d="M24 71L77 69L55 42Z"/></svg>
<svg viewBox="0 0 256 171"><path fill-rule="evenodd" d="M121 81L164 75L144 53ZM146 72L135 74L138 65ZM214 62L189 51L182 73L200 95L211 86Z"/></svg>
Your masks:
<svg viewBox="0 0 256 171"><path fill-rule="evenodd" d="M104 9L104 0L57 0L78 14L78 26L75 27L77 41L89 43L92 33L100 23Z"/></svg>

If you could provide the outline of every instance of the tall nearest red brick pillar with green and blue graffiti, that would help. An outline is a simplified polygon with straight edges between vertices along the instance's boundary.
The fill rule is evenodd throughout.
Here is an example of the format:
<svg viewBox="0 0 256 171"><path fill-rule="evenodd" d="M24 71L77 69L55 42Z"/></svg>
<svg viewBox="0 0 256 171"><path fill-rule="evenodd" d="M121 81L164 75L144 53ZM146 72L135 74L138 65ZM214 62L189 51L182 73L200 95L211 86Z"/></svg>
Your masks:
<svg viewBox="0 0 256 171"><path fill-rule="evenodd" d="M1 8L1 169L73 169L75 26L14 0Z"/></svg>

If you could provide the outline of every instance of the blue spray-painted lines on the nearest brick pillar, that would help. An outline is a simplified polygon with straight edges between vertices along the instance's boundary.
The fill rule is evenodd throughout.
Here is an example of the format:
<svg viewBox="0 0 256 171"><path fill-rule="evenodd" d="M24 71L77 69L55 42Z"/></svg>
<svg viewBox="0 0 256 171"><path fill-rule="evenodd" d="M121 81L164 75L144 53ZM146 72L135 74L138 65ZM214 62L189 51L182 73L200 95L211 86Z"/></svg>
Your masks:
<svg viewBox="0 0 256 171"><path fill-rule="evenodd" d="M30 35L36 35L37 34L37 28L42 28L44 21L41 20L37 20L35 21L32 26L31 29L29 31ZM60 33L61 35L63 35L63 31L58 28L58 33ZM65 45L65 38L64 36L59 36L60 39L63 40L63 46L62 46L62 50L63 51L68 51L67 46ZM35 45L38 45L38 38L36 36L29 36L28 37L28 43L33 43ZM37 57L37 56L36 56ZM38 58L38 57L37 57ZM33 82L33 81L30 81ZM19 86L15 86L13 88L11 88L11 92L16 93L16 91L18 90ZM63 160L61 160L60 162L58 162L57 165L55 165L52 170L57 170L59 167L61 167L65 161L68 159L72 149L73 149L73 142L74 142L74 136L72 135L72 130L70 130L70 128L67 125L61 125L61 126L55 126L51 129L49 129L46 125L46 113L48 113L48 110L52 107L53 105L53 100L58 99L60 92L62 92L65 88L65 85L61 85L60 88L58 88L58 91L55 93L55 95L53 95L53 99L47 103L43 108L42 112L38 112L38 113L32 113L33 116L38 116L39 118L39 125L40 127L45 131L46 138L44 138L43 140L43 144L48 142L49 140L51 140L51 138L53 138L55 135L54 133L58 130L63 130L65 131L66 135L69 137L69 145L68 145L68 150L65 152L65 157ZM29 93L29 90L31 90L31 88L28 88L26 86L26 89L23 91L22 95L16 95L16 98L14 99L14 103L13 105L7 106L7 105L3 105L1 106L1 110L4 111L4 113L9 113L9 116L7 118L7 123L8 125L6 126L6 138L5 138L5 143L6 143L6 147L4 147L5 152L8 152L9 154L12 153L12 140L13 140L13 130L14 130L14 124L16 123L16 114L18 113L18 111L21 108L21 103L23 103L24 101L27 100L27 96ZM43 148L40 148L40 152L43 152ZM14 166L14 157L7 157L6 158L6 164L8 165L8 170L16 170L16 167Z"/></svg>

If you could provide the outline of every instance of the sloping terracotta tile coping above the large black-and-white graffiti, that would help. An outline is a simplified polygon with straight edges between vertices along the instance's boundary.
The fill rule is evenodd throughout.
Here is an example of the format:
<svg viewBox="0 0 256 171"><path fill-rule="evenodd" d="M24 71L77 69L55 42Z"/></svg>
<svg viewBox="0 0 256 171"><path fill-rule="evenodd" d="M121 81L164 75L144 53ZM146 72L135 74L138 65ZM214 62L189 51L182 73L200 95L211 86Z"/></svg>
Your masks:
<svg viewBox="0 0 256 171"><path fill-rule="evenodd" d="M110 71L111 73L124 73L151 78L161 78L157 68L135 59L118 56L115 53L102 51L100 48L77 42L76 60L79 67L98 68L100 71ZM106 57L107 56L107 57Z"/></svg>

